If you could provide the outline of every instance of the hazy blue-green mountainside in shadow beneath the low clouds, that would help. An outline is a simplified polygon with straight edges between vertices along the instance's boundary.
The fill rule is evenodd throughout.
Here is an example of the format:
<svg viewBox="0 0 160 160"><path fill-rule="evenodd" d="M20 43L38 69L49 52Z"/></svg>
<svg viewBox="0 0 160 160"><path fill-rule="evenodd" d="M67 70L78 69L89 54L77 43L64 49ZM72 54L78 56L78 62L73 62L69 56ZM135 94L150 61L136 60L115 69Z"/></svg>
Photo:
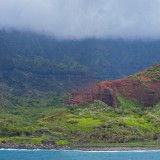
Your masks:
<svg viewBox="0 0 160 160"><path fill-rule="evenodd" d="M131 75L160 61L160 41L55 40L0 30L1 94L40 97Z"/></svg>

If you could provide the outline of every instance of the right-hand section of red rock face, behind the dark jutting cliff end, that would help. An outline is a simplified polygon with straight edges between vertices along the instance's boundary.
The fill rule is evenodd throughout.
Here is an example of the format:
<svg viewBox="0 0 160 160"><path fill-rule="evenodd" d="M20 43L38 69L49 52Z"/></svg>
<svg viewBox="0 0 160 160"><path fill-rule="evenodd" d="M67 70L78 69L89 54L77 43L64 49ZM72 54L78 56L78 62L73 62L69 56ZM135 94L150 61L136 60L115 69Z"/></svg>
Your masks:
<svg viewBox="0 0 160 160"><path fill-rule="evenodd" d="M100 85L113 89L116 95L126 99L134 99L144 106L152 106L160 100L160 84L157 88L151 87L151 83L143 83L138 79L122 79L112 82L101 82Z"/></svg>

